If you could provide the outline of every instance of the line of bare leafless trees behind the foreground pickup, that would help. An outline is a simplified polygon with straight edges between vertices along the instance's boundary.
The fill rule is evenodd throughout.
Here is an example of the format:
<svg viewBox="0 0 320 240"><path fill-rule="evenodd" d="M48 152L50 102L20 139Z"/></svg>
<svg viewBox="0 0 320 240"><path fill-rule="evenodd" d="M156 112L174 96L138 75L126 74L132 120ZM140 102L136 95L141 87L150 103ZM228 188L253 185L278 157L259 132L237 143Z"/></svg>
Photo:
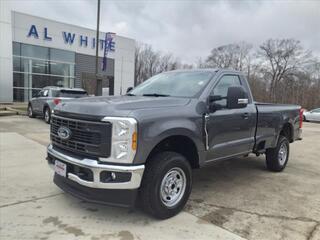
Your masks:
<svg viewBox="0 0 320 240"><path fill-rule="evenodd" d="M181 63L172 54L155 51L150 45L136 46L137 84L163 71L194 66L244 72L256 101L293 103L307 109L320 106L320 61L294 39L269 39L259 49L245 42L220 46L195 65Z"/></svg>

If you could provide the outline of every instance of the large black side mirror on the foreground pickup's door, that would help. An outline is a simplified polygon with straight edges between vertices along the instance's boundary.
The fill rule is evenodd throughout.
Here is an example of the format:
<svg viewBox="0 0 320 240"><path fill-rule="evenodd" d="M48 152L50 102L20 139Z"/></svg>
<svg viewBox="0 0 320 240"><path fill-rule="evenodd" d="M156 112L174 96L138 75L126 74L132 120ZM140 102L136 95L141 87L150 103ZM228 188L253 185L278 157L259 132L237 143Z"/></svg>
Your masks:
<svg viewBox="0 0 320 240"><path fill-rule="evenodd" d="M229 87L227 93L227 108L245 108L248 105L248 94L243 87Z"/></svg>

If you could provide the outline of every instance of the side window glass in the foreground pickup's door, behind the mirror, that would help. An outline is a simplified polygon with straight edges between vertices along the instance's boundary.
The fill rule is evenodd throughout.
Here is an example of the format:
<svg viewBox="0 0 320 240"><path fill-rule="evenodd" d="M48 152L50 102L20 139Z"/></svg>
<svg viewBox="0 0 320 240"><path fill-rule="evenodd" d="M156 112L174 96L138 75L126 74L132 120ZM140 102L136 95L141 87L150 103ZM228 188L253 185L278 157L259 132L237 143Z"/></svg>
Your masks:
<svg viewBox="0 0 320 240"><path fill-rule="evenodd" d="M221 97L226 97L228 93L228 88L233 86L241 86L240 79L237 75L225 75L220 78L219 83L215 86L211 95L220 95ZM222 99L216 101L217 104L220 104L222 107L227 106L227 100Z"/></svg>

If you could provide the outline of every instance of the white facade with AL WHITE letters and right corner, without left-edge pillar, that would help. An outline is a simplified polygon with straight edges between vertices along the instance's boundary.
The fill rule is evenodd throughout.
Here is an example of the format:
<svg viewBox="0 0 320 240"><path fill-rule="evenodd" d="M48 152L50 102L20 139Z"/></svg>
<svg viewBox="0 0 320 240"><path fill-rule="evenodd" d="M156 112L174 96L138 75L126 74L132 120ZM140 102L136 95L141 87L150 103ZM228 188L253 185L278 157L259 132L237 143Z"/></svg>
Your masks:
<svg viewBox="0 0 320 240"><path fill-rule="evenodd" d="M70 50L81 54L95 56L96 50L92 48L93 38L96 32L92 29L60 23L44 18L27 14L13 12L13 41L39 45L44 47ZM35 25L39 38L27 37L31 25ZM51 41L44 39L44 28L47 28ZM63 38L63 31L75 33L75 40L72 45L66 44ZM80 35L88 37L88 46L80 45ZM105 33L100 32L100 39L104 39ZM134 86L134 52L135 41L133 39L115 36L115 52L108 54L109 58L115 59L114 72L114 94L125 94L128 87ZM99 56L103 57L103 50L99 49Z"/></svg>

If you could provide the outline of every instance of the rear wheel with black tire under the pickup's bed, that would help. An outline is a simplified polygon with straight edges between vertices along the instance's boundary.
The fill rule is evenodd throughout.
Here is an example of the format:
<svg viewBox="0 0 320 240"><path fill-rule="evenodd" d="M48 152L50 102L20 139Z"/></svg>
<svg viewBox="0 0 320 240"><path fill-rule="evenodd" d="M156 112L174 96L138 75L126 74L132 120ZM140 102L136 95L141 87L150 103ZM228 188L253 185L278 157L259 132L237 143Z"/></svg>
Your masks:
<svg viewBox="0 0 320 240"><path fill-rule="evenodd" d="M282 147L284 147L284 149L282 149ZM284 151L286 151L285 156L283 155ZM284 136L280 136L277 146L275 148L269 148L266 151L267 168L273 172L281 172L288 163L289 152L290 148L288 139Z"/></svg>

